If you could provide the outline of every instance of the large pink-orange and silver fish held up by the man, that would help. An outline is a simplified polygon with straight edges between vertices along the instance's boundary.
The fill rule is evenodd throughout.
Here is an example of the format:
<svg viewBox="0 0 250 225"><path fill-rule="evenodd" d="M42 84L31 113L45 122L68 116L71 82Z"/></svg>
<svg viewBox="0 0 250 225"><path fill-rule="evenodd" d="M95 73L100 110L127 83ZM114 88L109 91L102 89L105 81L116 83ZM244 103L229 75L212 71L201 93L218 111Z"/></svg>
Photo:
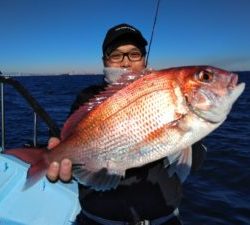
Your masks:
<svg viewBox="0 0 250 225"><path fill-rule="evenodd" d="M115 188L127 169L164 157L190 167L191 145L225 121L243 90L236 74L209 66L125 74L66 121L62 142L43 153L40 167L69 158L73 176L96 190ZM25 160L18 151L8 153Z"/></svg>

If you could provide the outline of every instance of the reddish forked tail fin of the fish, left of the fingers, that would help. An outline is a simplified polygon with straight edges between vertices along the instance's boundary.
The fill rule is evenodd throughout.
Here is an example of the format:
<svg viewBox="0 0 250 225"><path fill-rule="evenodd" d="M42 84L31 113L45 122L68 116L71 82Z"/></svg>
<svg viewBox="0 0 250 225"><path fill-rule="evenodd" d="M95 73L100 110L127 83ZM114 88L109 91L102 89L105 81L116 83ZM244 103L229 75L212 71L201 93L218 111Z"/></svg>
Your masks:
<svg viewBox="0 0 250 225"><path fill-rule="evenodd" d="M30 164L23 190L33 186L46 174L49 163L45 148L10 149L6 150L4 154L15 156L18 159Z"/></svg>

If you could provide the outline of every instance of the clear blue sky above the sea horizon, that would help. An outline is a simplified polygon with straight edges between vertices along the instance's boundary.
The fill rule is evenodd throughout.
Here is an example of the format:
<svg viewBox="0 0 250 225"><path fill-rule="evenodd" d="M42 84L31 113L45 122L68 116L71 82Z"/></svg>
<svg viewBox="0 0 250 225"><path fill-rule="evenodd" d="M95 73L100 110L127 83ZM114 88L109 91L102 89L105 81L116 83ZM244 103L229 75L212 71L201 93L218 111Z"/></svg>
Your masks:
<svg viewBox="0 0 250 225"><path fill-rule="evenodd" d="M0 70L100 73L106 31L150 39L157 0L0 0ZM250 0L161 0L149 66L250 70Z"/></svg>

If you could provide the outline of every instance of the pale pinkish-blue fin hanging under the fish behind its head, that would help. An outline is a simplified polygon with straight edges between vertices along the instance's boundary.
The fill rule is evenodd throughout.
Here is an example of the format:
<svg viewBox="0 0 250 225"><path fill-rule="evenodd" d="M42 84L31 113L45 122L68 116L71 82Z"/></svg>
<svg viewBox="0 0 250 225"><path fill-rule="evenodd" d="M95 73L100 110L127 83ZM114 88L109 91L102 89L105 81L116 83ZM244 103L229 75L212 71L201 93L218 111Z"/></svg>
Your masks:
<svg viewBox="0 0 250 225"><path fill-rule="evenodd" d="M192 147L187 147L183 149L175 162L173 162L173 159L171 158L168 159L168 161L171 162L169 163L170 165L167 170L169 176L173 176L173 174L175 173L179 177L180 181L183 183L188 177L190 170L191 170Z"/></svg>

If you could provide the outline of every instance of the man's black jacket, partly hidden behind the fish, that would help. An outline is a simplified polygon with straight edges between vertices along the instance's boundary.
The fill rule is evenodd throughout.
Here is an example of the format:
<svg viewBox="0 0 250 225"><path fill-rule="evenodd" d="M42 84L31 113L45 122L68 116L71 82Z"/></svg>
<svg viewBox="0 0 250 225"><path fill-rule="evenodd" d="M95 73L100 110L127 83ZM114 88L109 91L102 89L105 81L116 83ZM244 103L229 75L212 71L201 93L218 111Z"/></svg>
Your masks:
<svg viewBox="0 0 250 225"><path fill-rule="evenodd" d="M71 113L102 91L105 85L84 89L73 103ZM192 170L197 170L205 155L201 143L193 146L192 155ZM178 207L182 185L176 175L169 177L163 160L158 160L127 170L125 178L116 189L96 192L79 185L79 195L81 206L99 217L123 221L134 218L154 219L168 215Z"/></svg>

